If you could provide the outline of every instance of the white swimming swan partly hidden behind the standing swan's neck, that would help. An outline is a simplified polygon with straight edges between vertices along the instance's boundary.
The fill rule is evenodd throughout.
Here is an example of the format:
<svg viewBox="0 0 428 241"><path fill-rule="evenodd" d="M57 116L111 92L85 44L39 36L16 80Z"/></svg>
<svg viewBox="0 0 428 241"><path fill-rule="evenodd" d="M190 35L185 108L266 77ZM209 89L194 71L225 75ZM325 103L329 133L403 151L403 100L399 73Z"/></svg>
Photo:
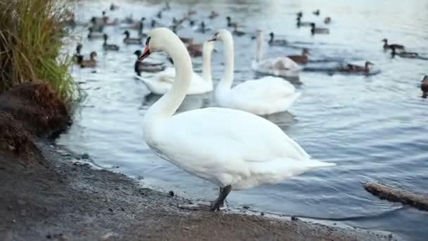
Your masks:
<svg viewBox="0 0 428 241"><path fill-rule="evenodd" d="M169 35L165 35L165 37L167 36ZM146 44L149 43L149 41L146 41ZM210 63L213 49L213 42L203 43L202 77L197 73L191 74L191 85L189 89L187 89L187 94L205 94L213 91ZM188 51L186 51L186 54L189 55ZM177 59L172 58L171 62L175 63L176 60ZM153 78L140 79L147 85L153 94L165 94L174 84L175 76L175 68L165 68L165 70L157 73Z"/></svg>

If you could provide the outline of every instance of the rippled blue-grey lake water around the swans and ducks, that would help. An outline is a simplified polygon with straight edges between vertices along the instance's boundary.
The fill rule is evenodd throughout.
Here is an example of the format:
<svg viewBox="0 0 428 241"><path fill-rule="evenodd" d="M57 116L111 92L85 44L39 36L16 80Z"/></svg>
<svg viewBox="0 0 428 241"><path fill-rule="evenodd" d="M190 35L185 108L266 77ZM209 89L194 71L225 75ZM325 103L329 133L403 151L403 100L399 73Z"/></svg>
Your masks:
<svg viewBox="0 0 428 241"><path fill-rule="evenodd" d="M161 8L156 2L127 1L120 4L119 10L107 14L124 18L132 13L135 19L145 16L151 20ZM93 15L100 16L109 5L109 1L82 1L76 6L77 18L87 21ZM232 192L228 198L230 206L246 205L274 214L343 221L360 228L389 230L410 240L424 240L428 236L427 212L381 201L361 185L366 180L379 180L427 193L428 101L420 98L419 85L423 75L428 74L428 61L391 59L381 43L387 37L390 42L405 44L408 51L428 57L427 1L177 1L171 6L172 10L160 20L165 25L189 8L198 11L195 20L204 19L215 29L225 27L225 16L229 15L242 23L246 32L273 31L295 47L310 48L317 68L334 66L334 61L370 60L380 71L370 76L301 73L299 80L294 81L303 92L301 97L289 112L267 118L311 156L337 166L277 185ZM316 8L320 8L319 17L311 14ZM211 10L218 11L220 17L207 20ZM331 16L330 35L311 37L308 28L297 29L297 11L304 12L303 20L313 20L320 26L325 16ZM184 26L179 35L192 36L197 42L213 34L196 33L187 23ZM121 49L104 53L101 40L87 41L84 28L76 28L76 41L83 41L84 54L99 52L99 66L96 73L92 69L73 68L73 76L81 82L85 97L77 106L73 125L58 143L74 152L87 152L104 168L118 166L115 171L142 176L142 182L149 187L174 190L191 199L213 199L217 187L158 159L142 140L142 118L159 97L149 95L144 83L134 78L132 54L141 47L122 44L123 31L120 26L106 27L105 32L111 36L109 42L120 44ZM248 35L235 37L234 41L235 82L254 78L251 60L255 42ZM70 50L74 44L73 40ZM216 48L215 84L224 67L222 46L218 44ZM265 56L300 51L265 46ZM200 58L194 58L194 68L201 71ZM180 111L213 105L211 94L190 96Z"/></svg>

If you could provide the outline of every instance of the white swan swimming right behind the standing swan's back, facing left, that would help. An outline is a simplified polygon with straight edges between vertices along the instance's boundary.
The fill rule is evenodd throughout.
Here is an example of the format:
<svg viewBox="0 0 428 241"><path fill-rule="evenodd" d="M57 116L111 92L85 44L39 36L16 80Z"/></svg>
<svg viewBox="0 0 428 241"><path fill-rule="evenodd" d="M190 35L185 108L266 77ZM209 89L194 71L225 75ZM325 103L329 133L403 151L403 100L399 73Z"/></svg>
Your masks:
<svg viewBox="0 0 428 241"><path fill-rule="evenodd" d="M246 80L230 88L234 79L234 46L229 31L219 30L211 40L219 40L225 46L225 72L215 88L215 101L219 106L268 115L287 111L301 95L287 80L266 76Z"/></svg>

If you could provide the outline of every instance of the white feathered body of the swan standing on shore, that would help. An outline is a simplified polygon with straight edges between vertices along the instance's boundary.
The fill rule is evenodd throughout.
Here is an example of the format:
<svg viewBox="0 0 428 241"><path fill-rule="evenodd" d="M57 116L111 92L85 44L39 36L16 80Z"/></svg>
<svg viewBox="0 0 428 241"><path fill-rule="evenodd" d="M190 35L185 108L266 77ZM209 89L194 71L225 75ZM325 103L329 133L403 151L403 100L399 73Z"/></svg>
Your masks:
<svg viewBox="0 0 428 241"><path fill-rule="evenodd" d="M245 111L187 111L172 116L162 128L146 131L151 136L145 140L158 156L218 185L251 187L332 166L311 159L277 125Z"/></svg>

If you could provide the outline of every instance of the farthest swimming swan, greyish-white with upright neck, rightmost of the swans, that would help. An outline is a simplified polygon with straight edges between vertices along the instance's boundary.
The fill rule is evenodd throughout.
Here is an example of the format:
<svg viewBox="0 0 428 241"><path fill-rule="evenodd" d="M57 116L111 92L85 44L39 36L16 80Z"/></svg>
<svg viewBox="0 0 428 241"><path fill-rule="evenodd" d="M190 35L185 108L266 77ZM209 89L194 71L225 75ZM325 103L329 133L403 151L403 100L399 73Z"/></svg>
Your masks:
<svg viewBox="0 0 428 241"><path fill-rule="evenodd" d="M282 77L298 76L301 67L286 56L278 56L275 58L263 58L263 31L258 30L256 40L257 52L256 59L251 63L251 68L258 73L267 75L275 75Z"/></svg>

